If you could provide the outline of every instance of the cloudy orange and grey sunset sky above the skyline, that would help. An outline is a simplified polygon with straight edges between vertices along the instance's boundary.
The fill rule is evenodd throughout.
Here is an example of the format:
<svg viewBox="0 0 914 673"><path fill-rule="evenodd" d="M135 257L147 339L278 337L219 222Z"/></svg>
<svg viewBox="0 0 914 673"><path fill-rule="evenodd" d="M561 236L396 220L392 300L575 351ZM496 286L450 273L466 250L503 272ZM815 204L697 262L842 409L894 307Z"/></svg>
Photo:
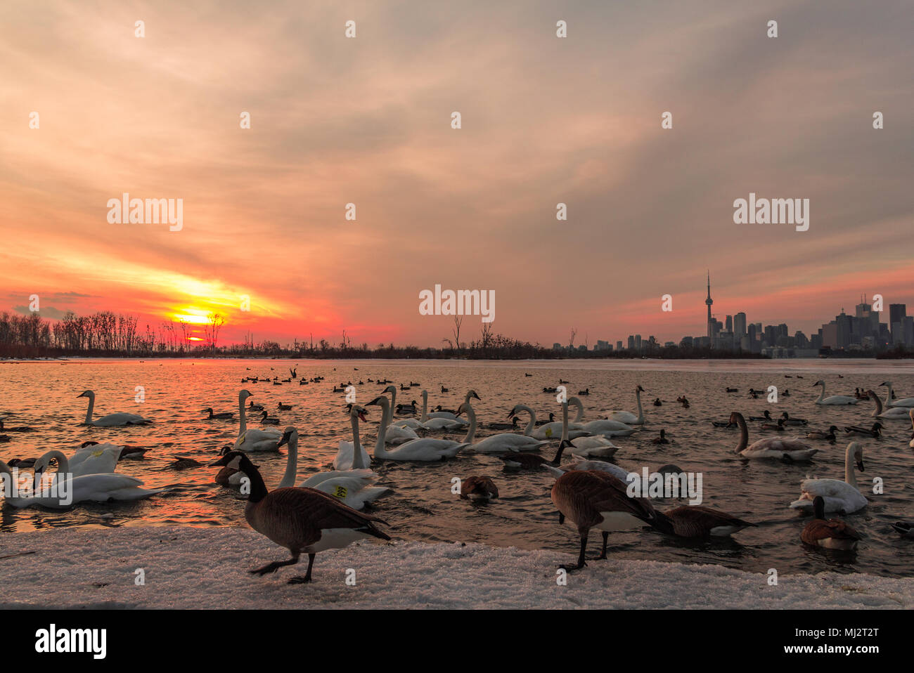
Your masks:
<svg viewBox="0 0 914 673"><path fill-rule="evenodd" d="M533 342L678 341L710 268L719 320L911 313L912 35L890 1L4 2L0 310L438 346L438 283ZM124 192L183 229L109 224ZM809 230L734 224L750 192Z"/></svg>

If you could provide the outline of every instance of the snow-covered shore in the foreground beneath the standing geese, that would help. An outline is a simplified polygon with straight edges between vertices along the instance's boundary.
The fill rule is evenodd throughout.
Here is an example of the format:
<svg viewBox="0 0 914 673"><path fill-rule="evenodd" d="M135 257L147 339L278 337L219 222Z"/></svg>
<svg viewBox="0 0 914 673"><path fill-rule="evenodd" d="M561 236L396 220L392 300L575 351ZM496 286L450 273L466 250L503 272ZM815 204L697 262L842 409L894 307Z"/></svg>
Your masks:
<svg viewBox="0 0 914 673"><path fill-rule="evenodd" d="M556 584L559 552L362 542L255 577L288 552L247 528L67 528L0 534L0 609L48 608L904 608L914 579L763 574L716 565L590 561ZM144 585L137 585L137 569ZM347 569L356 584L346 584ZM351 577L351 573L350 577Z"/></svg>

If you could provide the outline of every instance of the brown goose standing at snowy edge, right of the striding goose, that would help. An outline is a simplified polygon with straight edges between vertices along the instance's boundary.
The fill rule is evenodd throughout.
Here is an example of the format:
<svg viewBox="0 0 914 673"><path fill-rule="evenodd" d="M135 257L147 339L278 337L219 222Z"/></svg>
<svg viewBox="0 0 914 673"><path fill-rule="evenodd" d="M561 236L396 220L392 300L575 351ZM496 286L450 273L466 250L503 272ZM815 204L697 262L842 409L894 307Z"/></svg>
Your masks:
<svg viewBox="0 0 914 673"><path fill-rule="evenodd" d="M587 536L596 528L603 534L603 549L598 559L606 558L606 544L611 531L628 531L645 523L653 524L656 511L650 500L629 498L626 484L608 472L571 470L552 485L552 502L558 509L558 522L567 518L578 528L580 552L577 565L561 565L571 571L583 568Z"/></svg>

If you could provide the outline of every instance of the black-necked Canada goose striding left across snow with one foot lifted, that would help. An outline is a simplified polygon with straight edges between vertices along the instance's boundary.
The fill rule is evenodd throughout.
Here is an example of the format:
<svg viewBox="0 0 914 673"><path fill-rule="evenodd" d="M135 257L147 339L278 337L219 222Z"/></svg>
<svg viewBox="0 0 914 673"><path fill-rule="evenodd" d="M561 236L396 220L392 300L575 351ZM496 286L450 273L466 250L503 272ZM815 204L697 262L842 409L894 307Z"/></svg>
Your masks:
<svg viewBox="0 0 914 673"><path fill-rule="evenodd" d="M212 463L214 466L239 469L250 480L250 495L244 518L250 527L292 553L288 561L274 561L250 573L263 576L275 573L283 565L298 563L308 554L304 576L292 577L288 584L311 582L314 556L326 549L342 549L356 540L371 537L390 540L375 522L384 523L370 514L353 510L333 496L315 489L289 487L268 491L260 472L240 451L229 451Z"/></svg>

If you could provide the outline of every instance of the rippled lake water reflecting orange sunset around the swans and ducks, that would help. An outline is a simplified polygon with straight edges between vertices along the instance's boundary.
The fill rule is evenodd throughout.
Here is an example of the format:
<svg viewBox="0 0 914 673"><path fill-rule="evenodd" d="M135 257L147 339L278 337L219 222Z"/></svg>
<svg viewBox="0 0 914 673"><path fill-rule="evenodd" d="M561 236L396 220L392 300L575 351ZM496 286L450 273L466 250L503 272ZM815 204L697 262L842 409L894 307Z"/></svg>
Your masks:
<svg viewBox="0 0 914 673"><path fill-rule="evenodd" d="M325 376L320 384L273 385L241 384L245 376L289 376L288 367L297 365L305 379ZM357 371L356 371L357 368ZM531 373L532 376L525 376ZM844 378L838 375L843 374ZM797 376L802 376L797 378ZM790 378L785 378L790 376ZM909 448L910 423L885 421L884 436L878 440L859 440L865 447L866 472L858 473L861 488L871 504L850 514L845 520L865 535L856 553L807 551L800 542L800 531L808 517L787 505L800 494L800 482L807 475L843 478L847 442L839 439L832 446L811 442L821 450L812 463L784 465L780 462L736 457L733 448L739 432L711 426L713 419L725 419L730 411L761 415L765 409L780 415L808 418L811 427L870 425L873 405L817 406L817 379L827 384L826 394L852 394L856 387L879 388L891 379L898 397L914 395L914 366L911 363L877 361L769 361L769 362L660 362L605 361L564 363L440 363L407 361L309 362L282 360L166 360L166 361L80 361L40 363L0 363L0 415L8 426L33 426L37 432L9 433L12 441L0 444L0 457L37 457L57 448L70 455L87 439L111 441L149 448L143 460L122 460L118 471L142 478L147 487L168 487L153 499L129 504L79 505L72 510L0 511L0 548L2 531L30 531L50 526L140 526L180 524L192 526L246 525L243 501L235 489L213 483L218 468L176 470L170 467L173 455L198 460L214 458L220 447L238 435L238 393L248 388L255 404L264 405L281 419L280 427L299 430L299 481L327 468L341 439L351 439L348 416L344 414L345 394L334 393L338 384L356 384L358 402L366 404L384 386L368 379L388 378L395 384L419 382L430 392L430 404L456 408L469 387L482 398L474 402L481 424L505 420L507 411L517 403L532 406L538 417L560 407L555 394L542 392L566 379L570 393L590 388L581 397L586 408L585 421L606 417L618 409L635 411L633 389L645 389L647 423L642 432L613 441L621 448L615 462L625 468L658 468L675 463L685 470L701 472L706 505L717 506L739 517L754 521L758 528L737 533L732 541L687 543L671 540L651 531L620 532L611 535L611 554L622 558L651 559L689 563L720 563L752 572L769 568L783 572L864 572L909 576L914 572L914 543L900 540L889 522L914 519L914 489L911 486L914 450ZM365 382L359 384L359 382ZM441 385L450 389L441 394ZM142 385L145 402L134 402L134 388ZM750 387L767 389L777 385L790 396L781 396L777 405L762 397L749 398ZM727 387L739 393L726 393ZM154 420L150 426L100 428L80 426L87 400L77 399L84 389L96 392L96 417L113 412L131 412ZM673 401L685 394L689 409L680 405L650 405L655 397ZM420 401L420 388L399 393L398 402ZM278 403L293 405L279 411ZM212 406L216 411L235 411L232 421L208 421L200 410ZM362 425L362 440L374 446L379 407L370 407L369 423ZM526 420L526 419L525 419ZM749 424L749 441L763 434L759 424ZM259 424L251 422L249 426ZM657 446L651 439L665 428L672 444ZM481 430L477 437L492 434ZM2 434L2 433L0 433ZM797 433L788 432L787 436ZM441 436L441 435L438 435ZM446 435L460 438L459 435ZM557 443L554 443L557 444ZM546 453L552 457L555 448ZM257 454L268 485L282 477L285 453ZM491 456L462 454L444 463L398 463L375 461L379 484L394 489L391 496L377 500L375 511L400 538L436 541L487 542L528 549L553 549L576 552L575 531L558 525L558 516L549 499L553 478L541 473L505 473L502 462ZM453 477L487 474L494 478L501 499L476 505L451 494ZM882 478L885 493L867 492L869 479ZM863 481L866 479L866 481ZM680 504L659 501L660 509ZM599 536L591 536L591 549Z"/></svg>

